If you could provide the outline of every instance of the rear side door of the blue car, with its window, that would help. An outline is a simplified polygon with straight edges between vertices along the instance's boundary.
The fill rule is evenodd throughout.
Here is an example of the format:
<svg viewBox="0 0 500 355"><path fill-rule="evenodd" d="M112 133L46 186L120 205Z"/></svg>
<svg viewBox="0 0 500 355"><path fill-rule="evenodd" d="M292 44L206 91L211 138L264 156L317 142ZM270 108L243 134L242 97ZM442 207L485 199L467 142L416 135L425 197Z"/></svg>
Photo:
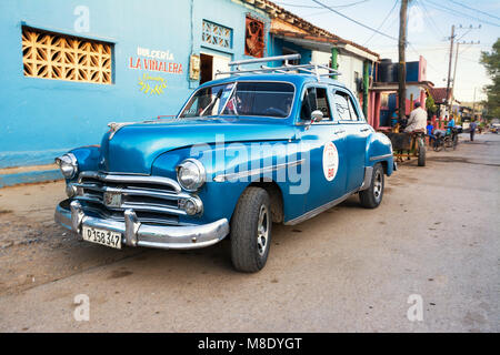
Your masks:
<svg viewBox="0 0 500 355"><path fill-rule="evenodd" d="M367 139L372 128L359 110L358 101L344 89L333 90L333 102L339 124L346 130L347 180L346 191L357 190L364 180Z"/></svg>

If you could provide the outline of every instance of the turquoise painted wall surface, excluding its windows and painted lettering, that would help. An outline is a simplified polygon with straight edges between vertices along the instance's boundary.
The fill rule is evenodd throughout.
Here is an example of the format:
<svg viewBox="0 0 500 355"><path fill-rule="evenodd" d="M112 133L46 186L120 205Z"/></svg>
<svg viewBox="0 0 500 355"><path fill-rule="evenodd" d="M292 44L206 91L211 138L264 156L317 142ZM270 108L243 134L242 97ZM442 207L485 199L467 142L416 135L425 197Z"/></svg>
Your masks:
<svg viewBox="0 0 500 355"><path fill-rule="evenodd" d="M88 17L83 11L82 18L82 7ZM189 80L192 53L221 52L233 60L249 58L244 55L248 13L266 23L266 54L272 55L276 47L270 45L269 17L239 0L0 1L0 170L50 164L54 156L72 148L99 144L112 121L177 114L199 84ZM203 20L230 28L232 48L203 43ZM112 84L24 77L23 26L112 43ZM167 62L182 65L182 72L133 69L137 59L146 59L138 55L138 48L172 54L172 60ZM162 94L141 91L139 82L144 74L166 80ZM47 173L38 172L38 175L47 176ZM22 179L37 181L33 176ZM0 173L0 187L24 182L22 179Z"/></svg>

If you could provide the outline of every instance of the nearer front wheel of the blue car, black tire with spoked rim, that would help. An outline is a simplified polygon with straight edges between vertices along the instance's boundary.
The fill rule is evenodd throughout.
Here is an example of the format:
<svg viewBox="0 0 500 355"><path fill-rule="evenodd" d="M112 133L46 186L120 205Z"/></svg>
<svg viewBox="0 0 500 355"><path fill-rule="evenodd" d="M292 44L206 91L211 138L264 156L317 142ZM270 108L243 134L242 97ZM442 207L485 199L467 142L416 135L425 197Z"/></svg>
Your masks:
<svg viewBox="0 0 500 355"><path fill-rule="evenodd" d="M260 187L248 187L231 219L231 261L236 270L254 273L266 265L271 229L269 194Z"/></svg>

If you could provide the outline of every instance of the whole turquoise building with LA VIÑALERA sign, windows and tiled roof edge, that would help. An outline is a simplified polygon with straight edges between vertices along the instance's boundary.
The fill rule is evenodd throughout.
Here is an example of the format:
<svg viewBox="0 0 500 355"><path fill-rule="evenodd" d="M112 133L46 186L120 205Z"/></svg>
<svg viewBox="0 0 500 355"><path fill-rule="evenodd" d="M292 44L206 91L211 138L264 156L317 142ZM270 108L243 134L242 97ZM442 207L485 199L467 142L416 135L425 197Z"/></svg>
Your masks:
<svg viewBox="0 0 500 355"><path fill-rule="evenodd" d="M2 0L0 32L0 187L59 179L54 156L99 144L109 122L176 115L231 60L338 60L354 91L367 67L333 60L347 41L267 0Z"/></svg>

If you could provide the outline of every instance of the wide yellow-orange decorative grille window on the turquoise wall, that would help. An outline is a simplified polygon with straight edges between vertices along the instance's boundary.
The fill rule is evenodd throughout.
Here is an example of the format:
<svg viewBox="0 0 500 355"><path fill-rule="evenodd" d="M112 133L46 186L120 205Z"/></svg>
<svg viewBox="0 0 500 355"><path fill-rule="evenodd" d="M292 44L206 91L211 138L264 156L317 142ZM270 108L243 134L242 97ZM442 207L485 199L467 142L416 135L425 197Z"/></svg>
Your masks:
<svg viewBox="0 0 500 355"><path fill-rule="evenodd" d="M24 75L111 84L110 43L22 28Z"/></svg>

